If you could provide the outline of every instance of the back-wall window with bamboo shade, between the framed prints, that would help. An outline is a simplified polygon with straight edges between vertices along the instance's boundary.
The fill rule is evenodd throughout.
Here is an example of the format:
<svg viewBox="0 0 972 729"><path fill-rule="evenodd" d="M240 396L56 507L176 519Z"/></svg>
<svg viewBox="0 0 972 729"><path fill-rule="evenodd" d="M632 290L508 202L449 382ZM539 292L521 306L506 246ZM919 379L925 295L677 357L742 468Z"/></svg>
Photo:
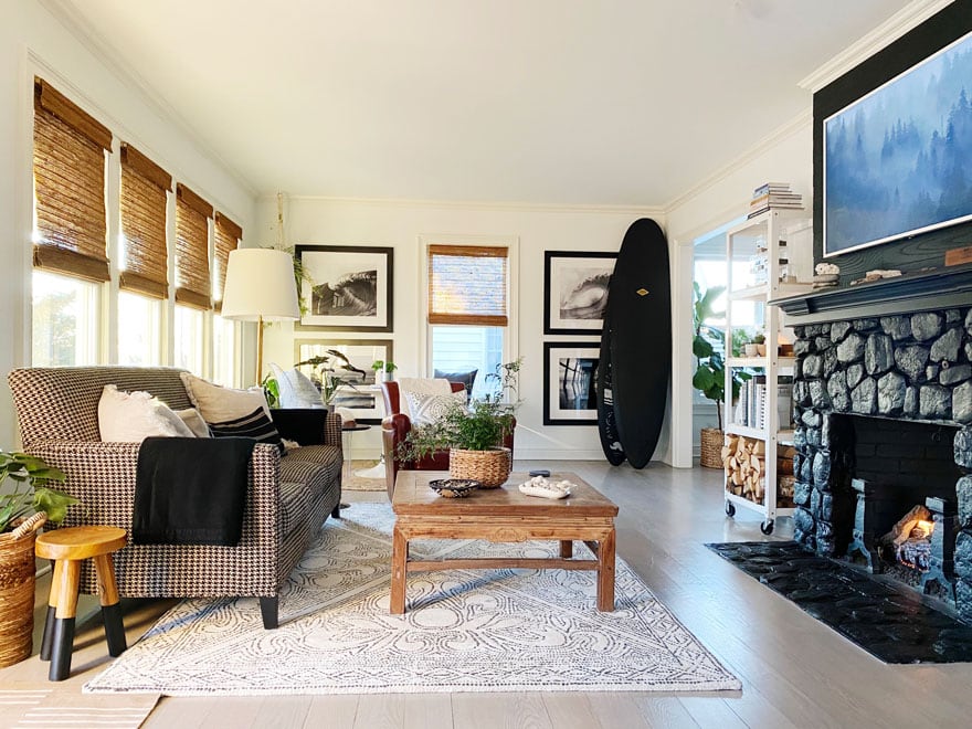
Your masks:
<svg viewBox="0 0 972 729"><path fill-rule="evenodd" d="M508 361L509 249L430 245L431 374L477 370L473 397L495 389L486 374Z"/></svg>

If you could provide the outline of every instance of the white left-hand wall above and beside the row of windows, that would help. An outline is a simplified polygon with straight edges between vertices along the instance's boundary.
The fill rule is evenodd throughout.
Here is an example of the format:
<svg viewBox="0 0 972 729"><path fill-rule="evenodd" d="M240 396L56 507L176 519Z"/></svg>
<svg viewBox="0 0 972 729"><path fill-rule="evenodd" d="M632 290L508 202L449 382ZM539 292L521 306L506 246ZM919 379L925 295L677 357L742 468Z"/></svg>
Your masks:
<svg viewBox="0 0 972 729"><path fill-rule="evenodd" d="M35 0L0 2L0 372L28 363L33 76L41 75L247 231L254 196ZM245 235L245 233L244 233ZM247 236L249 237L249 236ZM0 448L15 443L6 383Z"/></svg>

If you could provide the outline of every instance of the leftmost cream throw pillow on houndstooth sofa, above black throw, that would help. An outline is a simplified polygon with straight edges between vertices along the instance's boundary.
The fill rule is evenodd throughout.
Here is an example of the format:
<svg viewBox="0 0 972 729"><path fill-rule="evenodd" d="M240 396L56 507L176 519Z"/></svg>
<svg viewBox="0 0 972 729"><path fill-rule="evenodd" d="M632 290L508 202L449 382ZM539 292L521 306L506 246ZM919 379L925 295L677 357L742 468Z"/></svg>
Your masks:
<svg viewBox="0 0 972 729"><path fill-rule="evenodd" d="M98 401L98 432L106 443L141 443L150 436L194 437L166 403L148 392L106 384Z"/></svg>

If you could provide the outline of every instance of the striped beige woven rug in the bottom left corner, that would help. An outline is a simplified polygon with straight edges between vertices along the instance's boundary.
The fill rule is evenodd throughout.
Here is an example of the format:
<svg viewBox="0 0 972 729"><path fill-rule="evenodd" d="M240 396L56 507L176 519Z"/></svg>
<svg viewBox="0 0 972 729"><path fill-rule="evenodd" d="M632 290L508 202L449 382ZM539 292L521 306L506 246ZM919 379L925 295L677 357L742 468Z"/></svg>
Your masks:
<svg viewBox="0 0 972 729"><path fill-rule="evenodd" d="M138 729L158 699L158 694L83 696L76 688L68 690L11 683L0 688L0 727Z"/></svg>

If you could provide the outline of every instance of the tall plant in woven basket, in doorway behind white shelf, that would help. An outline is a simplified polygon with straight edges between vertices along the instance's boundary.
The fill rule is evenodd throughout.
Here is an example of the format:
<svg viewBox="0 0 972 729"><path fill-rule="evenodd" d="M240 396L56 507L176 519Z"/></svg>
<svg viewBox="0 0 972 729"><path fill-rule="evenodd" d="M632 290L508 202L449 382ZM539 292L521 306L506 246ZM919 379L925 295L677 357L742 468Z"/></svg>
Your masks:
<svg viewBox="0 0 972 729"><path fill-rule="evenodd" d="M691 377L693 387L707 399L716 403L718 427L704 427L700 433L701 457L699 465L707 468L722 467L722 402L726 400L726 363L715 345L725 342L725 332L708 320L725 316L716 310L716 300L726 290L725 286L715 286L702 292L698 283L693 283L695 300L693 305L693 324L695 336L691 352L696 359L696 370ZM735 344L735 342L733 342ZM747 372L732 370L732 398L739 395L739 388L750 379Z"/></svg>

